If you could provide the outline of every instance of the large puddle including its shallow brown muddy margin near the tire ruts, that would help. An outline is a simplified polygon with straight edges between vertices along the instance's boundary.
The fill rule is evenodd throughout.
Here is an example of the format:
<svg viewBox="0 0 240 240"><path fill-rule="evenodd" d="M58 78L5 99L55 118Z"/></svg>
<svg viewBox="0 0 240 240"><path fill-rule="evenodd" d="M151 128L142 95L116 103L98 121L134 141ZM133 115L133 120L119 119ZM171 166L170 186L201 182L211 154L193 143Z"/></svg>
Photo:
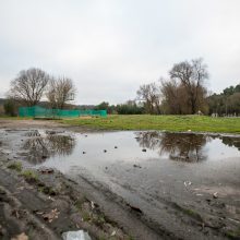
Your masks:
<svg viewBox="0 0 240 240"><path fill-rule="evenodd" d="M239 136L34 130L23 131L17 142L16 134L2 135L12 137L17 158L23 156L34 168L57 168L76 181L85 178L157 223L172 203L208 215L215 207L216 215L240 221Z"/></svg>

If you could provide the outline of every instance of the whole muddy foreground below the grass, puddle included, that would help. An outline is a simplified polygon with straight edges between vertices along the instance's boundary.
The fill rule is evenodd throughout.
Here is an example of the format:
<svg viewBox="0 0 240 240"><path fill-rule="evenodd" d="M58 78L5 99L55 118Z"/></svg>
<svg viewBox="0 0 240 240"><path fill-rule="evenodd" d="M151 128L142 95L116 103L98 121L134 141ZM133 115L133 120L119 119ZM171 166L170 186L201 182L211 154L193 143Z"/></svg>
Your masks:
<svg viewBox="0 0 240 240"><path fill-rule="evenodd" d="M240 238L239 135L0 128L3 239Z"/></svg>

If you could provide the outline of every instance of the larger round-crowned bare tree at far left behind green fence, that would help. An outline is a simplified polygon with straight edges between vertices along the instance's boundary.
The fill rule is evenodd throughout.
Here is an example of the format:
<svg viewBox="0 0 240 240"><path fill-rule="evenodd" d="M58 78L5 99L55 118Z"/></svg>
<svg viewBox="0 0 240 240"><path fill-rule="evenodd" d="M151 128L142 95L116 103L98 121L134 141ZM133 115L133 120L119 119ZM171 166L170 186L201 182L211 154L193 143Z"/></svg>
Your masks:
<svg viewBox="0 0 240 240"><path fill-rule="evenodd" d="M27 106L39 103L49 81L49 75L40 69L22 70L11 82L10 97Z"/></svg>

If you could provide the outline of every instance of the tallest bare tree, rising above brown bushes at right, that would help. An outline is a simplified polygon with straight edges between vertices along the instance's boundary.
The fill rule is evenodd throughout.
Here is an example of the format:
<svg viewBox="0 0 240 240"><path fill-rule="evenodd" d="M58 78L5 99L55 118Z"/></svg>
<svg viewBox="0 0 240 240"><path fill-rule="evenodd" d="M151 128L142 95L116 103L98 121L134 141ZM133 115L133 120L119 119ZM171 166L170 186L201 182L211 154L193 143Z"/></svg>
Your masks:
<svg viewBox="0 0 240 240"><path fill-rule="evenodd" d="M171 80L176 80L184 86L191 106L191 113L195 113L200 94L203 93L204 80L208 79L207 67L203 63L203 59L176 63L169 74Z"/></svg>

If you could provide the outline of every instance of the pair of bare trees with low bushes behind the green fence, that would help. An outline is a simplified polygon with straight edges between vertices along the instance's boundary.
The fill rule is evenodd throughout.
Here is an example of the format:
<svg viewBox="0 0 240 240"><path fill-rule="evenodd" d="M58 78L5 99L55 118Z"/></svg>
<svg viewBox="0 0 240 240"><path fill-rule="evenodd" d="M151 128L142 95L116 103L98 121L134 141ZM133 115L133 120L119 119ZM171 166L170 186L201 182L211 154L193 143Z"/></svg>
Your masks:
<svg viewBox="0 0 240 240"><path fill-rule="evenodd" d="M41 69L22 70L11 81L8 99L4 103L5 112L14 116L19 106L32 107L38 105L43 97L52 109L63 109L75 98L76 88L69 77L52 76Z"/></svg>

